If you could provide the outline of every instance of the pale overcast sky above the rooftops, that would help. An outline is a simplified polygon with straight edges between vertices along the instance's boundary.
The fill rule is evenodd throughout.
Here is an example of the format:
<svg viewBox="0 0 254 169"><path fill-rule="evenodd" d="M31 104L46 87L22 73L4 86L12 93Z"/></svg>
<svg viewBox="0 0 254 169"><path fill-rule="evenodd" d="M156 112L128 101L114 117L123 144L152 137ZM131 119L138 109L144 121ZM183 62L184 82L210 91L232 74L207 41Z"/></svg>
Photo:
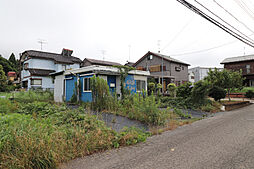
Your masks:
<svg viewBox="0 0 254 169"><path fill-rule="evenodd" d="M217 1L250 29L213 0L199 0L246 35L252 34L252 0L241 0L249 12L237 5L240 0ZM188 2L197 5L193 0ZM220 62L226 57L254 54L253 48L176 0L0 0L0 21L0 54L5 58L12 52L18 57L25 50L40 50L39 39L47 42L43 51L60 53L62 48L68 48L82 60L103 59L105 51L105 60L122 64L129 55L135 62L147 51L157 52L159 47L162 54L191 67L222 67Z"/></svg>

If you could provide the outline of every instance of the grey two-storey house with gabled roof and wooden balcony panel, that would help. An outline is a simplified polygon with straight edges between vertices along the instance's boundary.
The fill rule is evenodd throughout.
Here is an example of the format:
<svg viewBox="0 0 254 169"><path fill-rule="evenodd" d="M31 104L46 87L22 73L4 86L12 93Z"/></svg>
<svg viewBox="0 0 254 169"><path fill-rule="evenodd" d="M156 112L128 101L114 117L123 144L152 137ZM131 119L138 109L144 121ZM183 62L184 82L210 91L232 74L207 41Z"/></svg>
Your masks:
<svg viewBox="0 0 254 169"><path fill-rule="evenodd" d="M179 86L189 81L188 66L188 63L150 51L133 64L138 70L150 71L149 78L154 78L157 83L163 81L164 92L169 83Z"/></svg>

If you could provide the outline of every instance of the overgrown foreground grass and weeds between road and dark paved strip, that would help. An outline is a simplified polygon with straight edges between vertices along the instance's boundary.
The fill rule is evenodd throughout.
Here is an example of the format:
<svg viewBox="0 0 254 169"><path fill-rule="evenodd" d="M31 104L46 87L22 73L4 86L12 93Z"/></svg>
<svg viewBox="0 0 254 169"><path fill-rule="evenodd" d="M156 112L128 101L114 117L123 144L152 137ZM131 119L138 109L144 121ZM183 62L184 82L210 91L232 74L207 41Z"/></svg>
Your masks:
<svg viewBox="0 0 254 169"><path fill-rule="evenodd" d="M149 136L135 128L116 133L82 109L47 102L18 106L19 114L0 115L0 168L56 168L70 159L136 144Z"/></svg>

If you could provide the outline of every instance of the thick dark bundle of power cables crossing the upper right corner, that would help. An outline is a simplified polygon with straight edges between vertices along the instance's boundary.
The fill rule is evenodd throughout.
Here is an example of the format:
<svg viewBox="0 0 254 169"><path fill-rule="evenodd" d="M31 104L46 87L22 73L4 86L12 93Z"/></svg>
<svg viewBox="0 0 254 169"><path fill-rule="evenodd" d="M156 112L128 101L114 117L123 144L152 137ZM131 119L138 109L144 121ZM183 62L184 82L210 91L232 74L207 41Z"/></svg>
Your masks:
<svg viewBox="0 0 254 169"><path fill-rule="evenodd" d="M222 30L224 30L225 32L227 32L228 34L230 34L231 36L237 38L238 40L242 41L243 43L251 46L254 48L254 43L253 42L249 42L249 40L247 40L246 38L242 37L241 35L239 35L238 33L232 31L231 29L229 29L228 27L226 27L225 25L223 25L222 23L218 22L217 20L213 19L212 17L210 17L209 15L207 15L206 13L204 13L203 11L201 11L200 9L198 9L197 7L195 7L194 5L190 4L189 2L187 2L186 0L177 0L179 3L181 3L182 5L184 5L185 7L187 7L188 9L190 9L191 11L195 12L196 14L200 15L201 17L203 17L204 19L208 20L209 22L213 23L214 25L216 25L217 27L221 28Z"/></svg>

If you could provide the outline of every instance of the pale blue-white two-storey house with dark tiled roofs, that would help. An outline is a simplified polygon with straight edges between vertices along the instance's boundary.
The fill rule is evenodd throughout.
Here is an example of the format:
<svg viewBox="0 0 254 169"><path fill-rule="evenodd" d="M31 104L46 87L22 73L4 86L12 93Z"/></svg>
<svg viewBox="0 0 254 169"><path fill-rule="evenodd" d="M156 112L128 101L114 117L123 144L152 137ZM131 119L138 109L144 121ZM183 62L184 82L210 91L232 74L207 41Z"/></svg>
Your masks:
<svg viewBox="0 0 254 169"><path fill-rule="evenodd" d="M29 89L54 89L50 73L80 68L81 60L73 57L72 50L63 49L61 54L27 50L20 56L21 84Z"/></svg>

